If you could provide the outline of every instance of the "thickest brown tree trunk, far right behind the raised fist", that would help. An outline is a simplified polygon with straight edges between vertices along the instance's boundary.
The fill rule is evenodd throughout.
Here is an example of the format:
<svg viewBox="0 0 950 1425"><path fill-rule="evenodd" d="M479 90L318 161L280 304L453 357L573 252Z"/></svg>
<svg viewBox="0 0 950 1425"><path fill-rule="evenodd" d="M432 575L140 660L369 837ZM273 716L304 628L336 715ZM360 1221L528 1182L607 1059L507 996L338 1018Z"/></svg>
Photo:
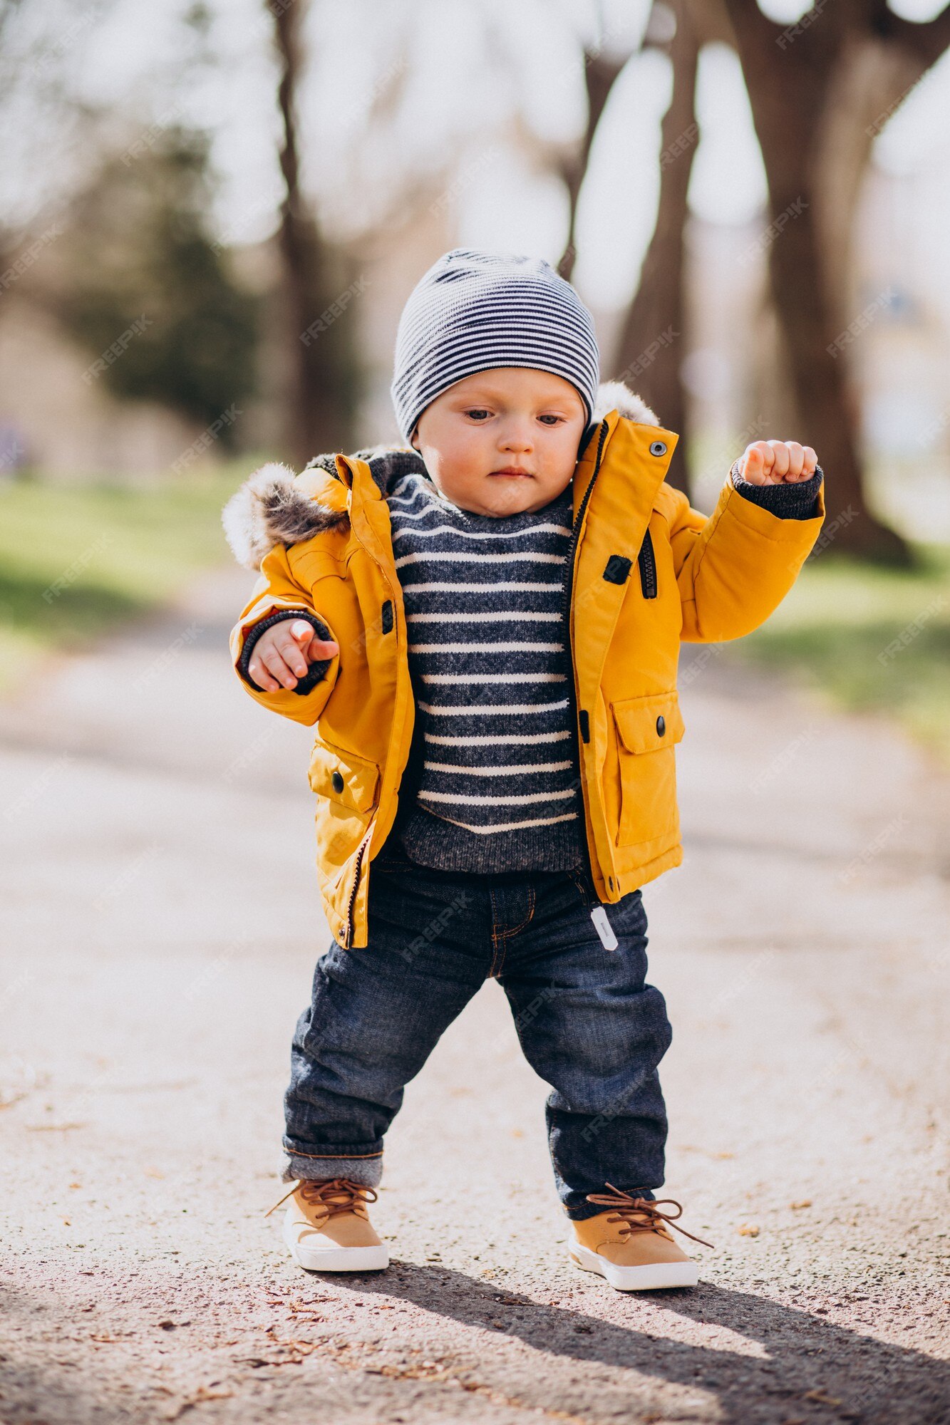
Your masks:
<svg viewBox="0 0 950 1425"><path fill-rule="evenodd" d="M910 561L864 503L850 369L852 241L876 131L950 43L950 6L926 24L880 0L810 10L782 27L756 0L725 0L769 184L769 278L799 408L799 439L827 476L836 547Z"/></svg>

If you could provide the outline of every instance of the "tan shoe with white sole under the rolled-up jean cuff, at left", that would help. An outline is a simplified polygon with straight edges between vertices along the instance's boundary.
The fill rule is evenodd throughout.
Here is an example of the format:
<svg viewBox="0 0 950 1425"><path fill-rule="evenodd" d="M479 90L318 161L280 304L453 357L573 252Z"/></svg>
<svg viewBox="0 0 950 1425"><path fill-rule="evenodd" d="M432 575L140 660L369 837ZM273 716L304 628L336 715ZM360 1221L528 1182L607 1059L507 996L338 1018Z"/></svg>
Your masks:
<svg viewBox="0 0 950 1425"><path fill-rule="evenodd" d="M301 1178L270 1211L288 1197L284 1241L298 1267L305 1271L381 1271L389 1265L389 1251L367 1213L367 1203L377 1200L374 1188L348 1177Z"/></svg>

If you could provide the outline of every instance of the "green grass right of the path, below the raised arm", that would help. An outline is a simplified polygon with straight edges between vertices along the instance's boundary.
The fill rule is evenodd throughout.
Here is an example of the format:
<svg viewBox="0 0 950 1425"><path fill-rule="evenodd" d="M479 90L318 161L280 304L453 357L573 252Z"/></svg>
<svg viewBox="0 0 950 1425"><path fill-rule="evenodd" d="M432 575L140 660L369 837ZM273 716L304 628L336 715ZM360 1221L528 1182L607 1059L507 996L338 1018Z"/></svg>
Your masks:
<svg viewBox="0 0 950 1425"><path fill-rule="evenodd" d="M913 571L830 550L814 556L737 651L792 671L844 708L894 715L950 767L950 547L917 544L916 553Z"/></svg>

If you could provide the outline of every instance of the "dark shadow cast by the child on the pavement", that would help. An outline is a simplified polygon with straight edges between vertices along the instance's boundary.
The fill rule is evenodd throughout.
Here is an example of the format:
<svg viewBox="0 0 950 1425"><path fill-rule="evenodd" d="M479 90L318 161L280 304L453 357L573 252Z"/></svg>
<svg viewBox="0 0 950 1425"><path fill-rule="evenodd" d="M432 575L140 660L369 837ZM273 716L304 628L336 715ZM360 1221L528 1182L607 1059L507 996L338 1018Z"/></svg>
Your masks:
<svg viewBox="0 0 950 1425"><path fill-rule="evenodd" d="M384 1275L335 1277L334 1284L516 1337L548 1355L642 1371L653 1379L712 1391L722 1419L742 1425L792 1418L807 1419L809 1425L819 1419L882 1425L950 1421L950 1362L745 1291L700 1285L652 1291L649 1297L690 1322L727 1328L743 1338L749 1354L727 1342L690 1345L638 1330L636 1312L643 1301L638 1294L622 1298L629 1304L632 1324L619 1327L563 1307L539 1305L445 1267L394 1261ZM603 1284L603 1291L613 1305L612 1288ZM602 1387L591 1388L599 1392ZM588 1396L591 1388L585 1392L582 1382L573 1387ZM532 1372L523 1394L528 1405L565 1408L563 1381L546 1381L543 1371Z"/></svg>

